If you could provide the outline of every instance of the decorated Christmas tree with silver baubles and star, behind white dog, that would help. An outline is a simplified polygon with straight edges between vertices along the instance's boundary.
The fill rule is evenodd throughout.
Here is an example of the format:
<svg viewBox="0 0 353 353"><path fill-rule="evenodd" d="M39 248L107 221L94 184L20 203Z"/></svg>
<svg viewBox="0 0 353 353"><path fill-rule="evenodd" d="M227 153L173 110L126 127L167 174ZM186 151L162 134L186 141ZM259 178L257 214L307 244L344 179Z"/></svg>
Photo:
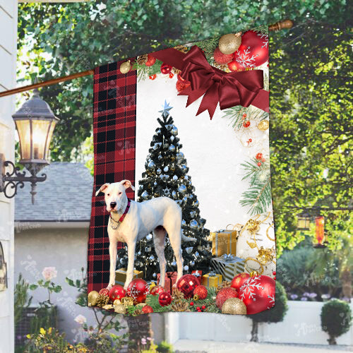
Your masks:
<svg viewBox="0 0 353 353"><path fill-rule="evenodd" d="M196 238L196 241L181 241L182 256L184 258L184 273L192 270L208 271L210 266L210 242L207 240L210 231L205 229L205 220L200 216L199 202L195 194L195 187L191 177L187 174L182 145L179 143L178 129L174 125L169 110L172 107L164 102L164 106L157 118L160 126L150 143L151 148L145 162L145 172L139 181L138 202L150 200L160 196L167 196L176 201L182 210L182 230L186 237ZM167 237L164 246L167 261L167 272L177 270L174 251ZM126 267L126 249L118 252L119 267ZM155 253L152 234L136 244L136 270L143 271L145 280L156 280L160 273L160 265Z"/></svg>

